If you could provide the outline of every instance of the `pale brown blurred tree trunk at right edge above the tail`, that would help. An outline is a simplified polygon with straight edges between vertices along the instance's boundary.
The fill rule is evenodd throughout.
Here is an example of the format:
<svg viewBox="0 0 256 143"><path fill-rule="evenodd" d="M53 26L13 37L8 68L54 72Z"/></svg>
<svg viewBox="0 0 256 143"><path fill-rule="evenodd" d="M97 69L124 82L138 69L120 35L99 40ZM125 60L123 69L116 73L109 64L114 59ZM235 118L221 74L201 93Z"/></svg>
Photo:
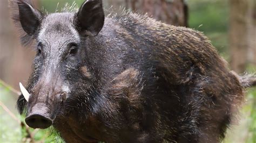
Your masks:
<svg viewBox="0 0 256 143"><path fill-rule="evenodd" d="M231 68L246 70L248 61L255 64L255 2L230 0Z"/></svg>

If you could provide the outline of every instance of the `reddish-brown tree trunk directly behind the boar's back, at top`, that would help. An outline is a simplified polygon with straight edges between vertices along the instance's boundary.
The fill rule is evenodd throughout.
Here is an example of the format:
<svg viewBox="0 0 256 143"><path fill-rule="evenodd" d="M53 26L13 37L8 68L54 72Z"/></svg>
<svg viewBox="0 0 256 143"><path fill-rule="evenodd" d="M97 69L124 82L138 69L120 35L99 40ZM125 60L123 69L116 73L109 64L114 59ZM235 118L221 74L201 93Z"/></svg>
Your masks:
<svg viewBox="0 0 256 143"><path fill-rule="evenodd" d="M119 2L119 3L117 3ZM147 13L154 19L176 26L188 26L187 5L184 0L123 0L107 1L108 5L113 5L117 9L119 5L125 5L126 9L131 9L138 13Z"/></svg>

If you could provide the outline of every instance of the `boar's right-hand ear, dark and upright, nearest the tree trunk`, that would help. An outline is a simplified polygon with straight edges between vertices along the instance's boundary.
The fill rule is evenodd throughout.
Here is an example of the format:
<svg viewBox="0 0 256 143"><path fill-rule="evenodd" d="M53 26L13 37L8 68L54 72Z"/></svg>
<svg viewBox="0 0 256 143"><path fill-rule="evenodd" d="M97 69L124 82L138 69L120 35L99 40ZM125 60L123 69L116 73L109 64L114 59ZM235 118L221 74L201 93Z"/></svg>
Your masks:
<svg viewBox="0 0 256 143"><path fill-rule="evenodd" d="M96 36L104 25L102 0L87 0L76 15L76 26L79 33L86 37Z"/></svg>

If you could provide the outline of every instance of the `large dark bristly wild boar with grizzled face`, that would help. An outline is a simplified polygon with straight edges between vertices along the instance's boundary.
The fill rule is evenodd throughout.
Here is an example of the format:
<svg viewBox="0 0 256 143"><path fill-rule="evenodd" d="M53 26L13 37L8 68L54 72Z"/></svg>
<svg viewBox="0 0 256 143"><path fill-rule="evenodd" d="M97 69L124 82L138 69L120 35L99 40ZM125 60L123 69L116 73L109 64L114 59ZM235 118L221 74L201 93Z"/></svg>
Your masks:
<svg viewBox="0 0 256 143"><path fill-rule="evenodd" d="M37 51L18 110L66 142L220 142L256 84L202 33L136 13L105 17L100 0L75 12L44 14L23 0L10 8Z"/></svg>

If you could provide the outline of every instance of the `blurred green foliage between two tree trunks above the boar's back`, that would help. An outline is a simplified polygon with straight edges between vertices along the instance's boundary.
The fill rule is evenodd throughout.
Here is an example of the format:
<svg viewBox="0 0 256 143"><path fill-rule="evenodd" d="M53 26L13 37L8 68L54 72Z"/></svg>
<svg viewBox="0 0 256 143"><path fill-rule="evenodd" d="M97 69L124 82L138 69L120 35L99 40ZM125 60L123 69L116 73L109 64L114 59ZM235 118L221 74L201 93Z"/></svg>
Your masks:
<svg viewBox="0 0 256 143"><path fill-rule="evenodd" d="M228 3L223 1L188 1L189 26L204 32L220 53L228 47Z"/></svg>

